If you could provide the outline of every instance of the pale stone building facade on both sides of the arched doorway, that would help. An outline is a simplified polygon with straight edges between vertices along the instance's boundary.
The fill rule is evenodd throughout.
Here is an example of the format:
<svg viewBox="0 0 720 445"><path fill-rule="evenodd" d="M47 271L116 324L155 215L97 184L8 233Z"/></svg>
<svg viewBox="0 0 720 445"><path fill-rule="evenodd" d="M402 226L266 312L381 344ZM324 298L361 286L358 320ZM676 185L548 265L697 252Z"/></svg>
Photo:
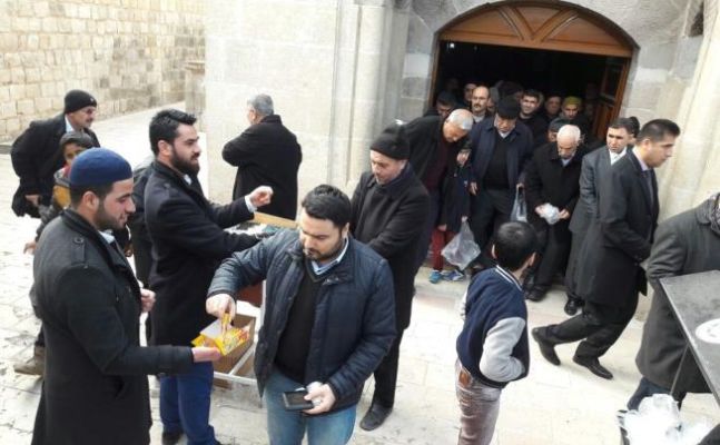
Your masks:
<svg viewBox="0 0 720 445"><path fill-rule="evenodd" d="M304 148L300 192L328 181L352 190L368 144L392 119L430 103L438 34L487 0L218 0L206 20L210 194L230 195L219 149L247 127L245 103L267 92ZM720 190L718 0L537 0L569 4L620 29L633 47L622 116L683 129L661 169L664 215ZM700 14L703 31L690 32Z"/></svg>

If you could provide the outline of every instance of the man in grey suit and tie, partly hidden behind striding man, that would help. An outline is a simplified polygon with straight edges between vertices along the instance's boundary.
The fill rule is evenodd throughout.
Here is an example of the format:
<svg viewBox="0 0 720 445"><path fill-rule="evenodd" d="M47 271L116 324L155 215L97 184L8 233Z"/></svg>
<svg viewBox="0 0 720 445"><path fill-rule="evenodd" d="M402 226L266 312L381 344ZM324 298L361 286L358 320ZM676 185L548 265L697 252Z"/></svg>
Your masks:
<svg viewBox="0 0 720 445"><path fill-rule="evenodd" d="M588 227L598 218L598 190L602 178L610 171L610 166L625 156L628 142L632 136L632 121L627 118L615 119L605 136L605 146L585 155L580 172L580 200L570 219L572 248L565 271L568 303L565 314L575 315L582 306L582 296L578 295L578 255L582 250Z"/></svg>

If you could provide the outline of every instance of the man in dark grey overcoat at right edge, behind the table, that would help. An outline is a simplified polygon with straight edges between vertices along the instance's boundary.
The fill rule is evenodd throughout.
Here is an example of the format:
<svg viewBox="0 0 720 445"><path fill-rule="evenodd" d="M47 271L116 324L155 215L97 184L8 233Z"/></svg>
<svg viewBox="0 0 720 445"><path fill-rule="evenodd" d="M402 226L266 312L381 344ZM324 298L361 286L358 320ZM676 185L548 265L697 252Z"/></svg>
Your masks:
<svg viewBox="0 0 720 445"><path fill-rule="evenodd" d="M648 280L653 289L648 320L642 329L635 364L642 378L628 402L638 409L640 402L653 394L670 394L688 346L675 320L660 278L720 269L720 194L698 207L669 218L658 227L648 260ZM681 382L680 400L686 393L709 392L698 365L689 356L692 370Z"/></svg>

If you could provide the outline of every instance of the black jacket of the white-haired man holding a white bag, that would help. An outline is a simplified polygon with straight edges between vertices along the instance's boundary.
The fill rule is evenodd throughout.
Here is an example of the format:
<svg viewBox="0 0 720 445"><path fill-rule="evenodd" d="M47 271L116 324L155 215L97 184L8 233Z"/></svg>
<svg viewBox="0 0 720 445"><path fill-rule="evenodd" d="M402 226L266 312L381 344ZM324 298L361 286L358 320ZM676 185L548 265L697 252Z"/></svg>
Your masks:
<svg viewBox="0 0 720 445"><path fill-rule="evenodd" d="M580 171L582 158L585 156L583 147L563 167L558 154L558 142L548 144L533 154L533 158L525 170L525 200L527 201L527 221L534 227L544 228L548 222L535 212L535 207L545 202L558 207L561 211L568 210L571 215L580 197ZM569 220L560 220L554 226L568 231ZM570 237L566 234L564 238Z"/></svg>

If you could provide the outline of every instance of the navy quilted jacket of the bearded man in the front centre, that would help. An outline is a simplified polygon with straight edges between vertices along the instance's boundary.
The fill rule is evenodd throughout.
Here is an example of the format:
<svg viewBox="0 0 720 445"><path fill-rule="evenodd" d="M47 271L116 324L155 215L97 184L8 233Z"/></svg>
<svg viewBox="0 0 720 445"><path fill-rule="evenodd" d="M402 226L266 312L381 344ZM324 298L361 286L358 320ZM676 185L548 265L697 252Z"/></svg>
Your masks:
<svg viewBox="0 0 720 445"><path fill-rule="evenodd" d="M296 230L284 230L245 251L233 254L213 278L208 295L265 279L265 318L255 348L255 375L263 394L293 301L303 279L305 257ZM327 383L333 411L352 406L365 379L395 338L395 308L389 267L371 248L349 239L345 257L324 278L317 295L307 382Z"/></svg>

